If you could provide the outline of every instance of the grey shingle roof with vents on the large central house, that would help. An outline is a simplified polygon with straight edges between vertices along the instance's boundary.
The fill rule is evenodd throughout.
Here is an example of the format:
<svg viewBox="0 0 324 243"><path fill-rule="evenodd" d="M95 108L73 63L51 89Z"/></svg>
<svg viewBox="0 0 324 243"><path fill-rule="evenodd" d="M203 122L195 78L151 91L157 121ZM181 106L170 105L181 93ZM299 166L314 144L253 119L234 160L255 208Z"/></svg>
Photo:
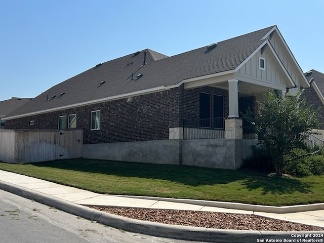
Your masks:
<svg viewBox="0 0 324 243"><path fill-rule="evenodd" d="M147 49L102 63L50 88L7 117L177 85L184 79L233 70L264 42L261 38L273 27L219 42L210 51L202 47L168 57ZM145 52L147 64L142 66ZM136 79L139 74L143 76ZM105 83L99 85L102 81ZM52 99L53 95L56 97Z"/></svg>

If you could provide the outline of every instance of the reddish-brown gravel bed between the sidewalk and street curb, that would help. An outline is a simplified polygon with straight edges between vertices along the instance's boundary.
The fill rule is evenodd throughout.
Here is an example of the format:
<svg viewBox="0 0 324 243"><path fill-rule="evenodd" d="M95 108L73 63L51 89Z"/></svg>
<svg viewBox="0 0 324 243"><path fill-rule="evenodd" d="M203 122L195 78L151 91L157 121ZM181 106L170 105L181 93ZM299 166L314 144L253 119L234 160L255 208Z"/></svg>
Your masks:
<svg viewBox="0 0 324 243"><path fill-rule="evenodd" d="M268 231L318 231L321 227L268 219L249 214L228 214L189 210L159 210L137 208L112 208L88 206L92 209L132 219L164 224L197 226L216 229L268 230Z"/></svg>

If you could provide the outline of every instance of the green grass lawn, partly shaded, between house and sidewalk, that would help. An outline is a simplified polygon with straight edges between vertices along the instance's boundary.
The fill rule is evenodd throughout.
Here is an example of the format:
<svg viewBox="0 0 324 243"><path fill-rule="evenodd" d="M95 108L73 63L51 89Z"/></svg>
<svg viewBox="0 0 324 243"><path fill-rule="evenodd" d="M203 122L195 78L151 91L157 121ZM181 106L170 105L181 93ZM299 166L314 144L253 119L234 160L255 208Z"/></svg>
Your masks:
<svg viewBox="0 0 324 243"><path fill-rule="evenodd" d="M191 198L288 206L324 202L324 176L277 178L242 170L66 159L0 162L11 171L103 194Z"/></svg>

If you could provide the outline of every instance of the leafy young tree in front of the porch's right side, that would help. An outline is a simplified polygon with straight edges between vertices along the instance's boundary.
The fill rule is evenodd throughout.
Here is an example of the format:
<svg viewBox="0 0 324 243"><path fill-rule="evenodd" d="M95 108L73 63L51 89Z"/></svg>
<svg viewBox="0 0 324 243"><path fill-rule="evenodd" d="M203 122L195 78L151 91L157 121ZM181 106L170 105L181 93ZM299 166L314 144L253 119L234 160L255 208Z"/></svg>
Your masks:
<svg viewBox="0 0 324 243"><path fill-rule="evenodd" d="M319 125L318 111L306 106L301 94L302 91L296 97L282 97L270 91L265 94L264 103L258 103L255 114L250 111L244 115L254 125L259 143L273 159L279 176L284 170L284 156L301 147L307 134Z"/></svg>

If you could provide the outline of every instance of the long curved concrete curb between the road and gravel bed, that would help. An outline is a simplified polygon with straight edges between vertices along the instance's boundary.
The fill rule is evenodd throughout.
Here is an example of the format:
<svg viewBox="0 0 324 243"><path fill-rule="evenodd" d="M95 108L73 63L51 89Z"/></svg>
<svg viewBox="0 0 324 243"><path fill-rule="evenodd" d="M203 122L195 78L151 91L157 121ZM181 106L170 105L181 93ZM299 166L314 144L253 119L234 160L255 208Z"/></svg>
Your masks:
<svg viewBox="0 0 324 243"><path fill-rule="evenodd" d="M123 216L116 216L98 210L90 209L86 206L70 203L69 201L47 195L42 192L35 192L19 185L0 181L0 189L16 195L35 200L38 203L55 207L67 213L83 217L85 219L97 221L114 228L123 229L135 233L167 237L183 240L207 241L207 242L263 242L266 239L296 239L293 235L298 234L318 234L322 231L298 231L298 232L277 232L277 231L255 231L255 230L221 230L203 227L192 227L182 225L169 225L155 222L148 222L130 219ZM265 241L264 241L265 242ZM281 241L272 241L281 242Z"/></svg>

